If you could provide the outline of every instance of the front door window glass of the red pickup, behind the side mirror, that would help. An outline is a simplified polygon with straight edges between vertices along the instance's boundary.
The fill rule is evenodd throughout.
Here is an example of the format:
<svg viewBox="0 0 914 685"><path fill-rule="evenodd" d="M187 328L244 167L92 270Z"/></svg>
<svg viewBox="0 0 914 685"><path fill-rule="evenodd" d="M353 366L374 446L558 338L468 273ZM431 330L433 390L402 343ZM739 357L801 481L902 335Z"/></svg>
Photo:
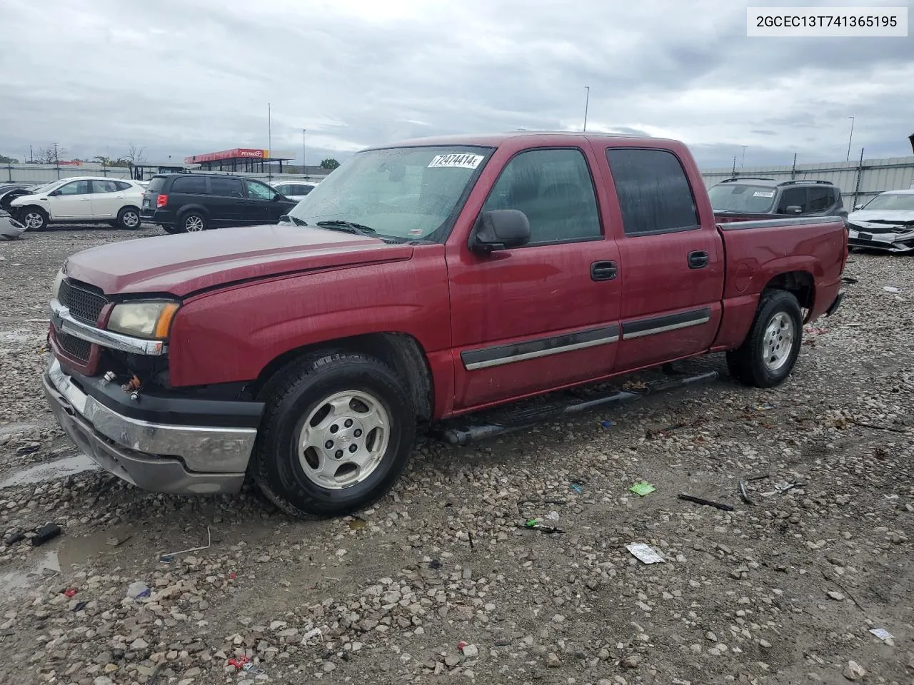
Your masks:
<svg viewBox="0 0 914 685"><path fill-rule="evenodd" d="M526 214L530 245L602 235L590 168L577 149L518 154L505 166L483 209L518 209Z"/></svg>

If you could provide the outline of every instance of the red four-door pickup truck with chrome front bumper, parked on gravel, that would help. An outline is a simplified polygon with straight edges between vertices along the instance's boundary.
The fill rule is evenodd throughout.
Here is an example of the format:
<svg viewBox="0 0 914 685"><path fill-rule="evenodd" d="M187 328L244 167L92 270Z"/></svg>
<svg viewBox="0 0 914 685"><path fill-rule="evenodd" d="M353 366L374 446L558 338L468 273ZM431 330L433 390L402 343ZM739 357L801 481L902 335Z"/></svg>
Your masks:
<svg viewBox="0 0 914 685"><path fill-rule="evenodd" d="M53 286L59 423L147 490L332 516L444 419L726 352L777 385L841 300L840 218L718 227L680 142L466 135L357 153L275 226L80 252Z"/></svg>

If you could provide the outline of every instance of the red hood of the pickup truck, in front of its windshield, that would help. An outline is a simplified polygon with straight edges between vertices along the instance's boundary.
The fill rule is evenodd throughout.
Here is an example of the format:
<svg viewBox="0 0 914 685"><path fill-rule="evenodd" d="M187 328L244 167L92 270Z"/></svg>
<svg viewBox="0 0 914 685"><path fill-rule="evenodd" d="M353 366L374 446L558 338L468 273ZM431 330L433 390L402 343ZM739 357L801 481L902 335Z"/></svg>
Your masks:
<svg viewBox="0 0 914 685"><path fill-rule="evenodd" d="M171 293L314 269L409 259L412 246L285 224L125 240L78 252L64 272L107 295Z"/></svg>

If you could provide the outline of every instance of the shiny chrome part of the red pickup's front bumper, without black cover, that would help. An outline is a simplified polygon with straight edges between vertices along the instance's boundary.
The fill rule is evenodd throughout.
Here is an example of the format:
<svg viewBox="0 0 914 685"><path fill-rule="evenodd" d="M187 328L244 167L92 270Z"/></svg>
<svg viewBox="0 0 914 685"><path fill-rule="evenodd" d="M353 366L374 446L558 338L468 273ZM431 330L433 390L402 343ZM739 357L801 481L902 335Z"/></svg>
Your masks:
<svg viewBox="0 0 914 685"><path fill-rule="evenodd" d="M102 469L154 492L240 490L257 437L256 427L189 426L125 416L85 392L86 386L80 381L90 380L95 379L80 377L74 382L57 359L42 376L45 396L58 424ZM125 402L132 401L126 393L124 398ZM262 405L250 405L253 411L262 410Z"/></svg>

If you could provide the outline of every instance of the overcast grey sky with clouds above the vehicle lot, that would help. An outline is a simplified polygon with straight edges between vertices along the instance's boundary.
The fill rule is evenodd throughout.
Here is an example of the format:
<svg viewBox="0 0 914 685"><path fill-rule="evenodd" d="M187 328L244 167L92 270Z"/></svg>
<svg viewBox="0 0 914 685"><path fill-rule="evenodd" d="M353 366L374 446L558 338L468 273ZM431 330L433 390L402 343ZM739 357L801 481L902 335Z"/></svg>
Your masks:
<svg viewBox="0 0 914 685"><path fill-rule="evenodd" d="M750 3L790 5L789 3ZM804 0L802 5L816 5ZM818 3L837 5L838 0ZM848 5L905 5L898 0ZM800 4L796 4L800 5ZM703 166L910 155L914 37L749 38L739 0L0 0L0 154L301 162L453 132L647 132Z"/></svg>

